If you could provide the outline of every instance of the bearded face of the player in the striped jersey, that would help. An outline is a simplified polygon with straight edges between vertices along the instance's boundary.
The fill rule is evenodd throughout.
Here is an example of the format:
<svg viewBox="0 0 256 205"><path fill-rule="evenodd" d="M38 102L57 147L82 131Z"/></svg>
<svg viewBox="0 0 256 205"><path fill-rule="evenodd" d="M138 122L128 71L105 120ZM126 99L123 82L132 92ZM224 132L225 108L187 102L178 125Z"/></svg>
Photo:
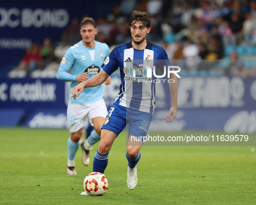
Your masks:
<svg viewBox="0 0 256 205"><path fill-rule="evenodd" d="M133 42L136 44L141 44L145 39L147 34L150 31L150 27L146 28L141 22L136 22L130 26Z"/></svg>

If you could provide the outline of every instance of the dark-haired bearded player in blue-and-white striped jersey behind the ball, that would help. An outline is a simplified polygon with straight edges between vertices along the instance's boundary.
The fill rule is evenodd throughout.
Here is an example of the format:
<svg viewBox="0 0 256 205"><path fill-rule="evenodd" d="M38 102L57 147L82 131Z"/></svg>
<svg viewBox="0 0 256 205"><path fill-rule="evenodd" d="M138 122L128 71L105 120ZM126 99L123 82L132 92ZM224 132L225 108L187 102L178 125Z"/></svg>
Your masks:
<svg viewBox="0 0 256 205"><path fill-rule="evenodd" d="M115 47L102 64L103 69L100 73L73 88L71 96L76 99L84 88L100 85L120 67L120 92L101 127L100 145L94 156L93 171L104 173L110 148L116 137L129 123L129 139L126 145L127 186L129 189L134 189L138 183L136 165L141 157L139 150L143 145L143 140L139 140L136 144L131 142L131 136L139 138L142 133L143 136L147 136L155 109L155 77L147 78L146 69L142 71L138 65L139 63L145 64L143 63L145 60L151 68L156 64L161 68L163 65L160 64L163 61L165 66L172 65L161 46L146 41L146 35L151 29L149 18L150 16L146 12L133 11L129 22L133 41ZM137 72L135 70L132 72L132 69L129 68L131 64L136 67ZM140 82L141 79L143 82ZM175 73L171 73L169 80L174 83L169 83L172 107L165 118L168 123L176 117L178 91ZM78 94L76 94L77 91Z"/></svg>

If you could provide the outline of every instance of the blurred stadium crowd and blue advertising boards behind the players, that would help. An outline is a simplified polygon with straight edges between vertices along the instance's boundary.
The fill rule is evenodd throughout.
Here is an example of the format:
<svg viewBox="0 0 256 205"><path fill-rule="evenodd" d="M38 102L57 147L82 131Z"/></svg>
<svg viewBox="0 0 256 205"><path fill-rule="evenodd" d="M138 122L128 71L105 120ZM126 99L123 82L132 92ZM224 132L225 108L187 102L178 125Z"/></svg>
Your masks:
<svg viewBox="0 0 256 205"><path fill-rule="evenodd" d="M178 114L162 123L171 99L157 85L154 131L256 132L256 1L254 0L1 0L0 126L67 128L67 82L56 79L68 48L81 40L81 20L97 23L110 50L131 41L133 10L151 16L147 40L165 48L178 79ZM110 107L119 91L113 74Z"/></svg>

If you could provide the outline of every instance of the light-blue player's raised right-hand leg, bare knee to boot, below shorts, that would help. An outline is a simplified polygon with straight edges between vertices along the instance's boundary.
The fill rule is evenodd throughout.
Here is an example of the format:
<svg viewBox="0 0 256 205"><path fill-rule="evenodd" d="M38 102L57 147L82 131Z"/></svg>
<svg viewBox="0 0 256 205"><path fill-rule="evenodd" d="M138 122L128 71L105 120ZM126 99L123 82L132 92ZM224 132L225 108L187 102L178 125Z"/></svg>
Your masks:
<svg viewBox="0 0 256 205"><path fill-rule="evenodd" d="M88 166L90 164L90 147L91 145L94 145L96 142L100 140L100 133L101 129L100 127L104 123L105 118L104 117L94 117L92 120L92 123L94 124L94 130L91 132L90 136L81 143L82 148L82 162L84 166Z"/></svg>

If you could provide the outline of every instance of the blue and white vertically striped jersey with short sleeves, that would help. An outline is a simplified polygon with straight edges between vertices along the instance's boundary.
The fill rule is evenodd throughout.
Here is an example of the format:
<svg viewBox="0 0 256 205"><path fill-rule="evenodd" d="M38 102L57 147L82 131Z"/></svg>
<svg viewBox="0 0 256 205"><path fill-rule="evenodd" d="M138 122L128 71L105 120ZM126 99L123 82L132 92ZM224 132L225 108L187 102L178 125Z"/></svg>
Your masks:
<svg viewBox="0 0 256 205"><path fill-rule="evenodd" d="M156 78L154 75L151 79L147 78L147 70L139 64L146 63L151 68L158 66L162 70L163 65L159 65L159 62L165 62L165 66L172 66L165 50L149 41L144 50L133 48L132 41L115 47L101 66L108 75L120 67L121 85L115 103L153 114L156 104ZM133 77L134 71L136 77Z"/></svg>

